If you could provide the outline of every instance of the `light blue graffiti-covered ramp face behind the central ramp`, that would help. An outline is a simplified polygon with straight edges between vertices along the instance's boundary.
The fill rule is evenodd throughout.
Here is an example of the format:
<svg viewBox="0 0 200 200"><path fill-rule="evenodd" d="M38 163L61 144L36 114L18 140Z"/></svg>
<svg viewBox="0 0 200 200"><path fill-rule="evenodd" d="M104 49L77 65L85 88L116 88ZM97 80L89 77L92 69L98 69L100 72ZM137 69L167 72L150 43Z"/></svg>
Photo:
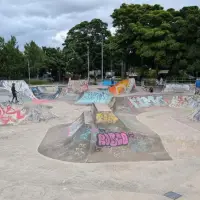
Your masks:
<svg viewBox="0 0 200 200"><path fill-rule="evenodd" d="M77 104L105 103L108 104L112 96L106 91L85 92L84 95L76 102Z"/></svg>

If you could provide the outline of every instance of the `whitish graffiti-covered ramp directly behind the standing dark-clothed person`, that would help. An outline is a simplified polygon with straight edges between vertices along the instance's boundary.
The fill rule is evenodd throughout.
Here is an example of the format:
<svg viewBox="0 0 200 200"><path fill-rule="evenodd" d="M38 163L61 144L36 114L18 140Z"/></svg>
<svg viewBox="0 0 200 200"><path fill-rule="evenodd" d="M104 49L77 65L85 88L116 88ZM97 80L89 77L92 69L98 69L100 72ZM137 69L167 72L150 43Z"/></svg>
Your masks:
<svg viewBox="0 0 200 200"><path fill-rule="evenodd" d="M4 89L11 93L12 84L15 83L15 89L21 95L26 96L30 99L36 99L33 92L29 88L28 84L24 80L9 80L1 81L1 85Z"/></svg>

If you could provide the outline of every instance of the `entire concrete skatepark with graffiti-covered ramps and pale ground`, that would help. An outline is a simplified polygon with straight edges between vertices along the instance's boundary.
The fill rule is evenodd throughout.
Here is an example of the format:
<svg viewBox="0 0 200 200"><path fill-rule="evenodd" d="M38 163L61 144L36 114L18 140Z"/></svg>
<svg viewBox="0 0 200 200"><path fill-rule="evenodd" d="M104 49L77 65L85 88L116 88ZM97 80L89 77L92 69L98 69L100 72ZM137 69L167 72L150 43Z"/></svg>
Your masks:
<svg viewBox="0 0 200 200"><path fill-rule="evenodd" d="M13 82L22 101L10 105ZM189 84L149 93L132 80L110 88L4 81L0 199L197 200L199 120Z"/></svg>

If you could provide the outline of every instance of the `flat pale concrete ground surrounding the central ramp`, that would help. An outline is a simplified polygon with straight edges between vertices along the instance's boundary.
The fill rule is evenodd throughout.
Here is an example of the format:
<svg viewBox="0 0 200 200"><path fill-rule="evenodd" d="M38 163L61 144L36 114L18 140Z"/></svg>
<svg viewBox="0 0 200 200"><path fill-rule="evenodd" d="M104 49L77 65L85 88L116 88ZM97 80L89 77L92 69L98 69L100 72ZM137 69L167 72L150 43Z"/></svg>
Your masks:
<svg viewBox="0 0 200 200"><path fill-rule="evenodd" d="M44 157L47 130L74 121L89 107L54 102L57 119L0 127L0 200L200 199L200 126L181 121L179 109L149 109L137 119L156 132L173 160L75 164ZM178 115L181 114L181 116Z"/></svg>

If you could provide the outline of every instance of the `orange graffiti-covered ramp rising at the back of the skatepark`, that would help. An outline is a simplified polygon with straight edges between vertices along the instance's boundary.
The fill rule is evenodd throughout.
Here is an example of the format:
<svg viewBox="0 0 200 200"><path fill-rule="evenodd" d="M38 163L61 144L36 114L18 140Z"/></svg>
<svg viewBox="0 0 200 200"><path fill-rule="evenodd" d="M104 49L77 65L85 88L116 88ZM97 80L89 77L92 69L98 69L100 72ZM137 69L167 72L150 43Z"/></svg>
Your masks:
<svg viewBox="0 0 200 200"><path fill-rule="evenodd" d="M128 94L128 93L131 93L133 91L133 89L135 89L135 88L136 88L135 79L130 78L130 79L125 79L125 80L118 82L116 85L110 87L109 91L113 95L119 95L122 93Z"/></svg>

